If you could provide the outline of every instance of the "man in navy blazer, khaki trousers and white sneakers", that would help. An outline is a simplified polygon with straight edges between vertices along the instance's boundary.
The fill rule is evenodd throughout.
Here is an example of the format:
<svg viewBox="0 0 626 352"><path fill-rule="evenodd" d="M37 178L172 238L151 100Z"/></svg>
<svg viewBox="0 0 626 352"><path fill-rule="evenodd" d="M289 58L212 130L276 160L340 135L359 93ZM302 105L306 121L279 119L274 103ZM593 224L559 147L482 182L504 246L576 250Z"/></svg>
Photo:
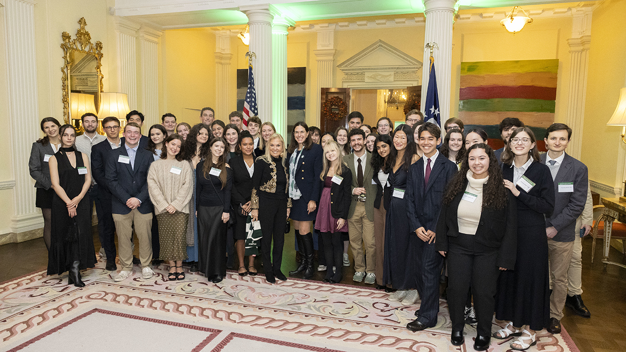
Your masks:
<svg viewBox="0 0 626 352"><path fill-rule="evenodd" d="M152 153L141 148L141 128L129 122L124 128L124 144L111 152L106 160L106 180L113 195L111 210L118 233L120 264L122 269L113 277L123 281L133 269L133 225L139 240L141 274L150 279L154 272L152 261L152 203L148 195L148 169L154 161Z"/></svg>

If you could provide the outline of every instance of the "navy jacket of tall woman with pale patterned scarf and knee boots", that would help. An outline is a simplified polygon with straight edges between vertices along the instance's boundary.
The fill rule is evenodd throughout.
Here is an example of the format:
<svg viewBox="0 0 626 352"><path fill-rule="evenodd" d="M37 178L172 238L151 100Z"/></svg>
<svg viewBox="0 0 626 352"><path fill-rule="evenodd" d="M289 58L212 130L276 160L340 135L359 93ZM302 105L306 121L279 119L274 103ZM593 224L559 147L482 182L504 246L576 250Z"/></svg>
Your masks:
<svg viewBox="0 0 626 352"><path fill-rule="evenodd" d="M322 150L321 145L314 143L308 150L302 148L300 153L302 153L302 155L300 155L295 170L295 184L302 194L300 199L306 200L307 202L310 200L319 202L319 195L321 194L319 175L322 173L324 150ZM289 163L290 158L291 154L287 154L287 159L285 159L285 163L287 163L287 175L289 175L289 168L291 167Z"/></svg>

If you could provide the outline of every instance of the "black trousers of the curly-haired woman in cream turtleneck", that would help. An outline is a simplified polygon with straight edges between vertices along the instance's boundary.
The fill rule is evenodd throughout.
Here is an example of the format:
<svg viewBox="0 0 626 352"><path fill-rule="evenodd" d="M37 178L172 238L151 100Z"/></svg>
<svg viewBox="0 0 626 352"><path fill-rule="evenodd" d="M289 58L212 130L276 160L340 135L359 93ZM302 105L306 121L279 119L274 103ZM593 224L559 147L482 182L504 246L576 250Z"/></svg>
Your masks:
<svg viewBox="0 0 626 352"><path fill-rule="evenodd" d="M500 276L496 266L498 249L476 242L474 235L459 234L448 240L448 309L452 330L462 331L465 326L464 310L471 285L478 320L476 331L481 336L490 336Z"/></svg>

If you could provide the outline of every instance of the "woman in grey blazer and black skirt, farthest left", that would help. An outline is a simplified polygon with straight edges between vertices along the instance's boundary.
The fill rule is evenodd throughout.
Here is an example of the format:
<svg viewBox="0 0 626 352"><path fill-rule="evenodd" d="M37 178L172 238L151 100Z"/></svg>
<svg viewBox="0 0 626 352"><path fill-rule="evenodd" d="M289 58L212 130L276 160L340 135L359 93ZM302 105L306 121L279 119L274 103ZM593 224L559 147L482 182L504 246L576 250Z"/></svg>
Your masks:
<svg viewBox="0 0 626 352"><path fill-rule="evenodd" d="M35 206L40 208L43 214L43 241L49 251L54 190L51 187L48 159L61 147L61 135L59 135L61 124L54 117L46 117L41 120L40 127L41 132L46 135L33 143L28 170L35 180L37 189Z"/></svg>

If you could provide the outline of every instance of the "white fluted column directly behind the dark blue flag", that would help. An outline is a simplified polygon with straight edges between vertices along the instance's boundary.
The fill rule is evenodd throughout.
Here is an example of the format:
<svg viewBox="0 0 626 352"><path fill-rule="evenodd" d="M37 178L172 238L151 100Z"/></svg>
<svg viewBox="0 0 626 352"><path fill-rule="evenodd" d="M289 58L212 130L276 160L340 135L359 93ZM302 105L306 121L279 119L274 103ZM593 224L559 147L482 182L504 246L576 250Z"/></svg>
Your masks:
<svg viewBox="0 0 626 352"><path fill-rule="evenodd" d="M456 0L424 0L426 29L424 44L435 42L439 49L434 49L434 69L437 75L437 91L441 123L450 117L450 90L452 75L452 24L454 23L454 4ZM430 68L430 51L424 49L424 66L422 68L422 111L426 109L426 91Z"/></svg>

